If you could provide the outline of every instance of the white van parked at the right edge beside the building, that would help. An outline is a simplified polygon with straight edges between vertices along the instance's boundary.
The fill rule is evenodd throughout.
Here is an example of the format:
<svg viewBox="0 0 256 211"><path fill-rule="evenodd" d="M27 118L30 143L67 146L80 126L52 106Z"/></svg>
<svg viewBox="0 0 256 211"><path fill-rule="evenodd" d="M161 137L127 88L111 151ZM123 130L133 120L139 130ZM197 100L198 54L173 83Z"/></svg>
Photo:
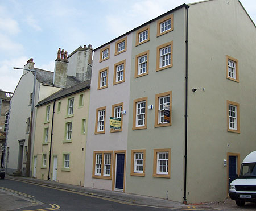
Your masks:
<svg viewBox="0 0 256 211"><path fill-rule="evenodd" d="M243 160L238 179L229 185L229 196L237 206L245 205L246 201L256 202L256 151Z"/></svg>

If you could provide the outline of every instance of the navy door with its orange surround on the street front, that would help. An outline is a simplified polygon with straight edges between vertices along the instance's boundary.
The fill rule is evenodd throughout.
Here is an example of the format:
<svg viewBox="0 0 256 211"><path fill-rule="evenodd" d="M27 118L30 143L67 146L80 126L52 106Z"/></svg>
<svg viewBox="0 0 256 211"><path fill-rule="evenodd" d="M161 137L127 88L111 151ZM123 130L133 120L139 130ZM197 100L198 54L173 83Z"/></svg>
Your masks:
<svg viewBox="0 0 256 211"><path fill-rule="evenodd" d="M126 151L114 151L114 169L112 189L116 191L125 191L125 168Z"/></svg>

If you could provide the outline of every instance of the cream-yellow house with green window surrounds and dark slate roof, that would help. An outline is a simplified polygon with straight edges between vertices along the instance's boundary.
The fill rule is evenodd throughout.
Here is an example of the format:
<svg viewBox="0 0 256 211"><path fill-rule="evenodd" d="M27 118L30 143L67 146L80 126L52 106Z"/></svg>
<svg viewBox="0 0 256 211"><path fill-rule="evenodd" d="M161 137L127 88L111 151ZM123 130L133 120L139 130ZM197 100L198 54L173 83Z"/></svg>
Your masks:
<svg viewBox="0 0 256 211"><path fill-rule="evenodd" d="M84 185L90 80L38 103L32 176Z"/></svg>

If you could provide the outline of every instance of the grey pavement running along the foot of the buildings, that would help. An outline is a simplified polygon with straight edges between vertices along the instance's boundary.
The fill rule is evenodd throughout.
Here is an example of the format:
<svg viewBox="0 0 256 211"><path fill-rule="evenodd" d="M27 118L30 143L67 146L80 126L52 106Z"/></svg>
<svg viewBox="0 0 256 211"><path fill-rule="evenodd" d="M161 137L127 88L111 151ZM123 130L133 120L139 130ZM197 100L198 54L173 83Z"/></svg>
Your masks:
<svg viewBox="0 0 256 211"><path fill-rule="evenodd" d="M162 198L149 197L149 196L141 196L135 195L131 193L123 193L119 191L106 191L102 189L95 188L86 188L77 185L70 185L64 183L57 183L56 181L46 181L39 180L30 177L13 177L10 175L6 175L6 179L14 179L29 183L34 183L37 185L44 185L52 188L63 189L65 191L73 191L80 192L83 194L88 194L92 197L101 197L106 200L112 200L116 202L126 202L127 204L134 205L144 205L144 206L152 206L157 208L172 208L172 209L189 209L189 210L241 210L238 208L233 200L229 198L225 201L221 202L209 202L202 204L191 204L185 205L180 202L175 202L171 200L164 200ZM249 205L252 207L248 207L246 210L256 209L256 205Z"/></svg>

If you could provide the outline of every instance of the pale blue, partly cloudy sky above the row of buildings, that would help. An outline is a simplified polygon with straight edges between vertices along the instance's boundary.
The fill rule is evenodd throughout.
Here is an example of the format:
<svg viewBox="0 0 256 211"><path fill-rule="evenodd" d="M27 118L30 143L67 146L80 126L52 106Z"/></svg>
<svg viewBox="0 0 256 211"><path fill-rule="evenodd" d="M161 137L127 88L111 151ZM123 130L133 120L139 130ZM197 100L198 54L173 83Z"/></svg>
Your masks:
<svg viewBox="0 0 256 211"><path fill-rule="evenodd" d="M59 48L97 48L148 20L197 0L0 0L0 90L14 92L22 70L54 70ZM228 0L223 0L228 1ZM256 23L256 1L241 0Z"/></svg>

